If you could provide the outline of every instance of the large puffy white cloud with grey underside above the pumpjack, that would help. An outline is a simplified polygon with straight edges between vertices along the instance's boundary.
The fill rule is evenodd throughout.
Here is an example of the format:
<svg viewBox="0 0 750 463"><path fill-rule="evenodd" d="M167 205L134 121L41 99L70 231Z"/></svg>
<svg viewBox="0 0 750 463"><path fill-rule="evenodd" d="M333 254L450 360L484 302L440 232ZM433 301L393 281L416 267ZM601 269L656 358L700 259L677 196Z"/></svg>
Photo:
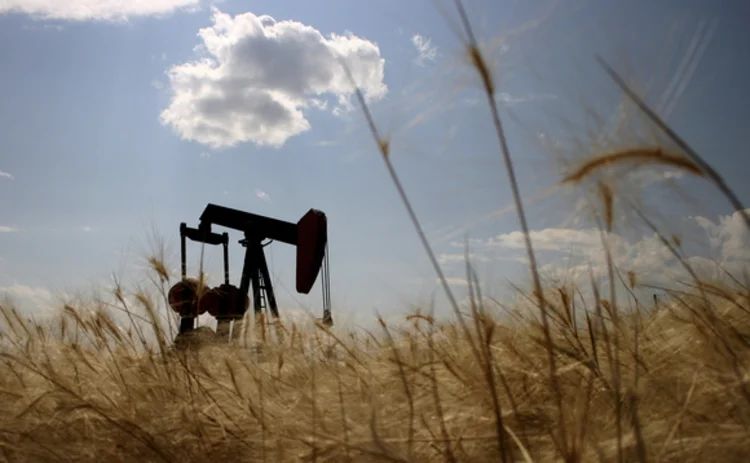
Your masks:
<svg viewBox="0 0 750 463"><path fill-rule="evenodd" d="M351 108L341 60L370 101L387 92L385 60L369 40L324 36L297 21L253 13L214 9L212 19L198 32L207 56L168 72L172 97L160 119L185 140L214 149L243 142L282 146L310 129L304 111L324 109L321 96L336 99L334 113Z"/></svg>

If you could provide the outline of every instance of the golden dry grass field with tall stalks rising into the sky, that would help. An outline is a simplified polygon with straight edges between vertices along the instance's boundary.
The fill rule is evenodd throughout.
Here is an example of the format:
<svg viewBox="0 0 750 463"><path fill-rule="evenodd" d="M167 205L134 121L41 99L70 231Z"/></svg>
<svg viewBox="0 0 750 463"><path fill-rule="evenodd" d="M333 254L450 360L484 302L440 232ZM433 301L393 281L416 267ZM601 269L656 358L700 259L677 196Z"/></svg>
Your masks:
<svg viewBox="0 0 750 463"><path fill-rule="evenodd" d="M454 322L416 314L398 327L381 320L379 332L365 334L291 325L260 352L223 344L176 352L174 320L166 328L161 321L170 275L157 255L150 263L160 297L116 282L113 305L68 305L46 325L2 306L4 461L746 460L750 288L729 277L701 281L679 242L660 234L694 277L692 288L638 299L639 275L623 278L609 256L617 192L603 183L609 294L592 282L593 296L584 300L579 288L543 284L496 83L456 4L526 239L533 283L526 305L534 310L519 305L512 319L500 318L468 259L470 313L459 309L391 164L389 140L358 93ZM663 121L656 125L682 152L636 147L595 156L567 180L613 162L677 166L705 175L741 206L697 153ZM615 294L617 281L625 295ZM623 310L623 300L635 309ZM121 328L113 310L125 312L131 326Z"/></svg>

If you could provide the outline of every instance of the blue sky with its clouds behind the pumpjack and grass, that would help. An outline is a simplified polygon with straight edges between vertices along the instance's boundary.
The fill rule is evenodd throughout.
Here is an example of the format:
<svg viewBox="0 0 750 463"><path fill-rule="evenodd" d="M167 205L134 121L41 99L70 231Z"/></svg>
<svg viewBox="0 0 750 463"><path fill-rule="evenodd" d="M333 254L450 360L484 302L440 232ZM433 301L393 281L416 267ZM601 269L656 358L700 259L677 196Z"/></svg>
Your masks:
<svg viewBox="0 0 750 463"><path fill-rule="evenodd" d="M545 195L560 153L540 143L586 145L590 135L563 124L582 128L584 105L612 118L619 94L594 53L651 85L649 101L671 95L660 110L750 200L745 2L466 3L500 79L549 272L580 266L593 252L580 247L596 245L587 224L569 220L573 193ZM177 268L179 223L218 203L289 221L325 211L340 314L424 303L434 273L332 50L392 135L393 163L456 290L466 234L490 289L523 283L507 177L458 25L453 4L434 1L0 2L0 288L33 310L49 290L106 284L113 271L137 279L152 231ZM689 195L649 193L662 223L694 236L703 257L746 257L746 231L723 198L705 182L653 174L628 185L640 194L639 181L674 180L668 191ZM618 236L624 265L646 273L663 257L653 239ZM282 308L318 312L318 285L293 293L294 250L271 248ZM199 247L189 253L197 269ZM219 250L206 256L216 273Z"/></svg>

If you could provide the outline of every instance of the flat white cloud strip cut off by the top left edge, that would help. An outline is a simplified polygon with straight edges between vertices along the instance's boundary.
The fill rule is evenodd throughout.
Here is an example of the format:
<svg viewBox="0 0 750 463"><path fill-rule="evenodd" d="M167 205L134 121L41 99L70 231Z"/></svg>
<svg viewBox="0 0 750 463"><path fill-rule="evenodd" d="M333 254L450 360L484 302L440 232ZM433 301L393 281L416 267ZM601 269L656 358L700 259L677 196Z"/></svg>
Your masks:
<svg viewBox="0 0 750 463"><path fill-rule="evenodd" d="M199 5L200 0L0 0L0 14L22 13L66 21L127 21Z"/></svg>

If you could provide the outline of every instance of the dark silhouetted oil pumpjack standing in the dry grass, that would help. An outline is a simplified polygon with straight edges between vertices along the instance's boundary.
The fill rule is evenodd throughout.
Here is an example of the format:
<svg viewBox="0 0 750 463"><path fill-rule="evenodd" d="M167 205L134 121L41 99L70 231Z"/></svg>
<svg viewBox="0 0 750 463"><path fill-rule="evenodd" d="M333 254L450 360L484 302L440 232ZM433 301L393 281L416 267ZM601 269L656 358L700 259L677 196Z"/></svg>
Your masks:
<svg viewBox="0 0 750 463"><path fill-rule="evenodd" d="M245 261L239 288L229 282L229 234L215 233L212 226L220 226L244 233L240 244L245 248ZM224 250L224 283L215 287L202 287L199 280L187 277L186 240L209 245L222 245ZM266 241L268 240L268 241ZM206 312L217 319L216 335L229 339L230 324L240 321L250 307L248 295L252 288L253 309L256 321L259 315L270 312L279 318L271 278L268 273L263 248L280 241L297 248L297 292L308 294L318 274L323 270L324 325L333 325L330 308L330 281L328 269L328 228L326 215L310 209L299 222L291 223L263 217L228 207L209 204L200 216L198 228L180 224L180 258L182 279L169 290L169 304L180 319L180 335L195 329L195 319ZM232 337L237 333L237 325Z"/></svg>

